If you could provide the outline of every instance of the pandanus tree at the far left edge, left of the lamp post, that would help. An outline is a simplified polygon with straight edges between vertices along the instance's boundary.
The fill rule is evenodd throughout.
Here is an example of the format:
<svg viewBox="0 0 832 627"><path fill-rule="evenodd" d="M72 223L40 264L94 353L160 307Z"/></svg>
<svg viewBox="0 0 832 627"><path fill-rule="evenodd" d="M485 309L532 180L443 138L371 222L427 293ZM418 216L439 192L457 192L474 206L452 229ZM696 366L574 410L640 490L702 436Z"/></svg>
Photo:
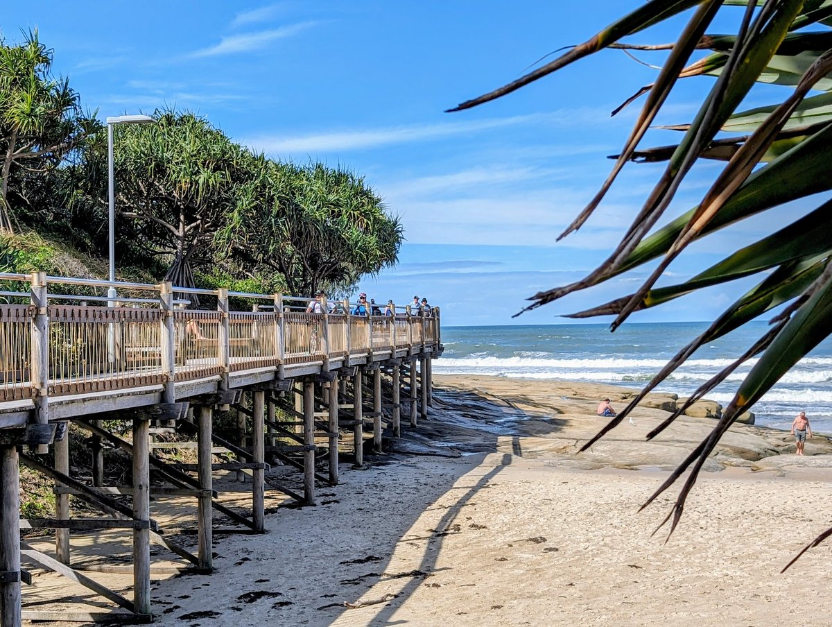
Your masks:
<svg viewBox="0 0 832 627"><path fill-rule="evenodd" d="M66 78L52 77L52 50L30 32L24 42L0 38L0 230L13 231L10 183L41 177L100 126L82 113ZM12 187L14 187L12 185ZM18 186L22 187L22 186Z"/></svg>

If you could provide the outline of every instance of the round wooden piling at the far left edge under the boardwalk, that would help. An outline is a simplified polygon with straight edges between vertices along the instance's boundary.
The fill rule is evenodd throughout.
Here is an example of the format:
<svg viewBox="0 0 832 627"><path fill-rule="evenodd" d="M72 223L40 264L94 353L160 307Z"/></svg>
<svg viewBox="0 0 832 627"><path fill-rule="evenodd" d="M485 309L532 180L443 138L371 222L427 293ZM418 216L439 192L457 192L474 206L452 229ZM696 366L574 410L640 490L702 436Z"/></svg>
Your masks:
<svg viewBox="0 0 832 627"><path fill-rule="evenodd" d="M17 447L0 446L0 625L21 627L20 470Z"/></svg>

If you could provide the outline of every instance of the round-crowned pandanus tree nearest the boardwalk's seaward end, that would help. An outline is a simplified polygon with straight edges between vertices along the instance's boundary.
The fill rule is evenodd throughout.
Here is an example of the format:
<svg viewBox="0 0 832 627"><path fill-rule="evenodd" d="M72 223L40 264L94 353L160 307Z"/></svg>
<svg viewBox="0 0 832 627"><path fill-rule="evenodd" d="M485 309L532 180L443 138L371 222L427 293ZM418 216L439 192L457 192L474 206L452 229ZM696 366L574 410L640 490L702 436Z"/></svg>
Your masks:
<svg viewBox="0 0 832 627"><path fill-rule="evenodd" d="M344 289L397 260L399 218L354 172L263 160L250 194L255 202L237 205L220 248L281 277L291 294Z"/></svg>

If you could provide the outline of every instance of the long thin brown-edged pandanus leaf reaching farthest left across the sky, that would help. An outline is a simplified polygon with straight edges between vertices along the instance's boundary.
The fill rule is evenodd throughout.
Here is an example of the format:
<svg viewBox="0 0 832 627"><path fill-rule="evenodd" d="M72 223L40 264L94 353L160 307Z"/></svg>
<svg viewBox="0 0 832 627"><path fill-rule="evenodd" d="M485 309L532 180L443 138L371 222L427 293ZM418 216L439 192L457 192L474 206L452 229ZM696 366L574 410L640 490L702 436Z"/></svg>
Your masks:
<svg viewBox="0 0 832 627"><path fill-rule="evenodd" d="M463 109L470 109L483 102L492 101L498 97L505 96L530 82L537 81L538 78L547 76L561 67L566 67L572 62L577 61L582 57L587 57L593 52L598 52L611 43L617 42L622 37L639 32L646 27L673 17L677 13L681 13L688 8L695 7L702 0L650 0L645 2L641 7L635 11L628 13L626 16L612 22L608 27L588 39L586 42L573 47L572 50L558 57L552 62L548 62L542 67L538 67L533 72L528 72L526 75L518 78L516 81L509 82L503 87L498 87L493 92L483 94L483 96L467 100L458 107L448 109L448 112L463 111Z"/></svg>

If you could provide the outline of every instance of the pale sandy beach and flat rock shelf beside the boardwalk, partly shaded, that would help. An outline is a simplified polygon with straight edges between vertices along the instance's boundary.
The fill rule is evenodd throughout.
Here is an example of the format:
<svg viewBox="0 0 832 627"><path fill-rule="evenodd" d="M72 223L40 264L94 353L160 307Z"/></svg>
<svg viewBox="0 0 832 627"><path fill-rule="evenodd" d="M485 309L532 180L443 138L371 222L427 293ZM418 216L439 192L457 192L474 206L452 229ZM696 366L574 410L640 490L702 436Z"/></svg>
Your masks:
<svg viewBox="0 0 832 627"><path fill-rule="evenodd" d="M714 422L640 409L586 454L619 389L437 377L431 419L268 534L215 538L216 572L154 586L156 625L832 625L832 445L732 427L665 543L638 507ZM619 402L615 402L619 401ZM360 607L348 605L367 604ZM348 604L348 605L345 605Z"/></svg>

